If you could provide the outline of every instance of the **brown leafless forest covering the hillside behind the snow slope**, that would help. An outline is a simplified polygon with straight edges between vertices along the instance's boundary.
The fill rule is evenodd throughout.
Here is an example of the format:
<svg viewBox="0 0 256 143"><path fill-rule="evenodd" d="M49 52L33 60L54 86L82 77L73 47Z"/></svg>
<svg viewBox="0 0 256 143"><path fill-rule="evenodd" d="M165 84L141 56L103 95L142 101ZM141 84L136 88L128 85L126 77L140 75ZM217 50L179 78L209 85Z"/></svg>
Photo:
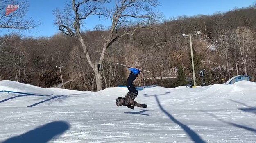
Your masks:
<svg viewBox="0 0 256 143"><path fill-rule="evenodd" d="M100 57L108 31L109 27L96 25L93 30L82 32L94 62ZM122 31L120 26L115 34ZM201 34L192 36L197 85L201 84L197 73L202 69L206 71L206 85L220 84L236 75L249 75L255 81L256 7L250 6L210 16L179 16L121 37L106 51L100 71L102 88L125 85L129 71L116 62L152 73L140 73L136 86L158 84L172 88L186 84L193 74L190 40L182 34L197 31ZM49 88L62 83L56 66L63 66L61 74L66 84L62 88L97 90L95 74L78 40L63 33L39 38L18 34L0 37L0 80Z"/></svg>

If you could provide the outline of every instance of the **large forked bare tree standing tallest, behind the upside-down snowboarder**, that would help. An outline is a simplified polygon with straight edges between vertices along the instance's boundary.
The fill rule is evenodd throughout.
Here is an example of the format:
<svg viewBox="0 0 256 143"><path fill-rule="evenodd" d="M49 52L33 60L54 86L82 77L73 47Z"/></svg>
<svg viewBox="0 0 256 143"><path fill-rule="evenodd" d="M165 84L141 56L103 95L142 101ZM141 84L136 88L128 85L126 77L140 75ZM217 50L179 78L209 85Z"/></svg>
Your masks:
<svg viewBox="0 0 256 143"><path fill-rule="evenodd" d="M82 48L86 55L86 59L95 73L97 91L102 90L102 74L100 73L101 64L104 59L106 49L125 35L134 35L135 31L141 27L148 26L162 17L159 11L153 11L151 7L156 7L159 3L157 0L115 0L115 6L106 10L101 6L107 0L72 0L72 9L66 7L63 12L59 9L54 11L56 17L55 24L59 26L59 30L66 35L75 37L82 44ZM106 11L103 11L106 10ZM91 60L82 37L83 20L91 15L104 15L112 22L109 29L109 35L106 38L100 59L97 62ZM122 28L123 31L117 33L117 29Z"/></svg>

